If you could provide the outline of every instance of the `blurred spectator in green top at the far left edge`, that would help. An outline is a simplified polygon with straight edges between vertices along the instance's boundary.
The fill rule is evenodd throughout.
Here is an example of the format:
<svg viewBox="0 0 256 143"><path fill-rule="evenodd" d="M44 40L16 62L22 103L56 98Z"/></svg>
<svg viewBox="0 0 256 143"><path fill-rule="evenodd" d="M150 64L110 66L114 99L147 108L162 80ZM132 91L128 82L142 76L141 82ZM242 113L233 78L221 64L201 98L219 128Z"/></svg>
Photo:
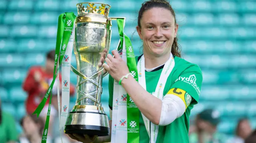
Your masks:
<svg viewBox="0 0 256 143"><path fill-rule="evenodd" d="M18 132L14 118L4 112L0 100L0 143L15 143L18 140Z"/></svg>

